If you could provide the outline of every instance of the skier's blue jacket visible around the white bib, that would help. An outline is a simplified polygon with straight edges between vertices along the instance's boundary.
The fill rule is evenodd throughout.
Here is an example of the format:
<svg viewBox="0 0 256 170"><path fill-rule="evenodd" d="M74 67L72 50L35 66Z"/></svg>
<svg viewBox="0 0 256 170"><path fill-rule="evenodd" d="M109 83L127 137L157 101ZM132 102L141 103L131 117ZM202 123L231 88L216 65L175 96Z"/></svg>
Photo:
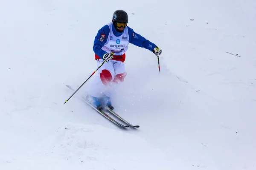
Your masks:
<svg viewBox="0 0 256 170"><path fill-rule="evenodd" d="M153 51L153 49L157 46L154 43L142 37L140 34L137 34L136 32L134 32L132 28L128 26L127 28L128 28L128 34L129 34L129 43L134 44L138 47L146 48L150 51ZM119 37L123 34L123 32L120 33L116 31L116 28L113 25L112 25L112 31L116 37ZM95 52L96 55L98 55L101 58L103 57L104 54L106 54L106 51L102 50L102 47L107 42L109 32L110 30L108 25L105 25L98 31L94 39L93 51ZM102 38L102 34L106 36L106 38L104 38L103 41L100 40L100 38Z"/></svg>

